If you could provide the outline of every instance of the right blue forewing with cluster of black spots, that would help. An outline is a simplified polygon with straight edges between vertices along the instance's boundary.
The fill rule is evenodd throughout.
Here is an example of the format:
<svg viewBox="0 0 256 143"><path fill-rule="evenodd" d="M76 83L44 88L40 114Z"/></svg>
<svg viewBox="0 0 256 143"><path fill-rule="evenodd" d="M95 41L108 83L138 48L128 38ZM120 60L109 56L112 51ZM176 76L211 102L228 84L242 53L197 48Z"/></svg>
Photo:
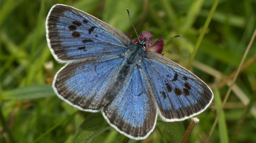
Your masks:
<svg viewBox="0 0 256 143"><path fill-rule="evenodd" d="M202 80L158 53L146 51L142 69L165 121L191 118L204 111L213 99L212 91Z"/></svg>

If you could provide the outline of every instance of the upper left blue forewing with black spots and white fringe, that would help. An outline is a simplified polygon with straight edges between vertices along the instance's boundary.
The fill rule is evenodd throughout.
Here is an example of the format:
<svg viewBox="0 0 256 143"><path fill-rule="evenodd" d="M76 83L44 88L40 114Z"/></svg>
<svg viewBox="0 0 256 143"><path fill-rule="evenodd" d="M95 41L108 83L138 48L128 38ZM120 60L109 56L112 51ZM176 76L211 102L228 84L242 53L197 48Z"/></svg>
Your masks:
<svg viewBox="0 0 256 143"><path fill-rule="evenodd" d="M54 58L63 63L117 55L130 39L99 19L66 5L54 5L46 21L47 42Z"/></svg>

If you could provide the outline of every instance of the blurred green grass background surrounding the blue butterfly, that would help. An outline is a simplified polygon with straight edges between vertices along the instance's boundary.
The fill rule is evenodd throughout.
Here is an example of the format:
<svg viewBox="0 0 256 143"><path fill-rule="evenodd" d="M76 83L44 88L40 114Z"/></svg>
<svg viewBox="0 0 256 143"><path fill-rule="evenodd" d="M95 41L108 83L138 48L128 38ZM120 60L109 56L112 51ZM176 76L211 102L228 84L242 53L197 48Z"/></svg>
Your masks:
<svg viewBox="0 0 256 143"><path fill-rule="evenodd" d="M54 61L45 21L55 4L70 5L135 37L147 30L166 40L164 56L186 66L215 0L0 0L0 142L118 142L121 134L101 114L79 111L50 87L64 66ZM187 142L206 142L233 73L256 27L256 0L220 0L190 69L214 91L210 107ZM246 57L210 142L256 142L256 48ZM79 128L86 118L86 123ZM190 119L157 122L144 141L180 142ZM91 125L91 127L87 125ZM79 134L81 133L81 134ZM78 136L82 135L82 136Z"/></svg>

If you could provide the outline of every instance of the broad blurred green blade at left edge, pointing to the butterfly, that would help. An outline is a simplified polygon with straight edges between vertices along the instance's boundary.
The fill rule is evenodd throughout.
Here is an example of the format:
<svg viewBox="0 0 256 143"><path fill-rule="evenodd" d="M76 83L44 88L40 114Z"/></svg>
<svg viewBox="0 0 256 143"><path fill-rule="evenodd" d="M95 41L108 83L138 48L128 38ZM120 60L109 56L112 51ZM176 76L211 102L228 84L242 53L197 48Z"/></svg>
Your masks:
<svg viewBox="0 0 256 143"><path fill-rule="evenodd" d="M28 100L55 95L49 85L31 85L5 91L0 95L1 100Z"/></svg>

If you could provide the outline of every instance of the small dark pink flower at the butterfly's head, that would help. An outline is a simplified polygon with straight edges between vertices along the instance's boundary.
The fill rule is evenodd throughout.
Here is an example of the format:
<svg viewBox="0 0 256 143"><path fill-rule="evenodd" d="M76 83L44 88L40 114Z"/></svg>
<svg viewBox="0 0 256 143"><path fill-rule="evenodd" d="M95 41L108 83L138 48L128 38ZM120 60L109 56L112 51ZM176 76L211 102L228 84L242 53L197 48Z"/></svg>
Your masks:
<svg viewBox="0 0 256 143"><path fill-rule="evenodd" d="M128 33L124 33L133 44L136 44L138 41L142 41L144 38L146 38L145 43L145 51L151 51L161 54L164 49L164 40L162 38L159 38L153 45L151 45L153 35L149 33L148 31L142 31L139 35L139 39L132 40L131 36Z"/></svg>

